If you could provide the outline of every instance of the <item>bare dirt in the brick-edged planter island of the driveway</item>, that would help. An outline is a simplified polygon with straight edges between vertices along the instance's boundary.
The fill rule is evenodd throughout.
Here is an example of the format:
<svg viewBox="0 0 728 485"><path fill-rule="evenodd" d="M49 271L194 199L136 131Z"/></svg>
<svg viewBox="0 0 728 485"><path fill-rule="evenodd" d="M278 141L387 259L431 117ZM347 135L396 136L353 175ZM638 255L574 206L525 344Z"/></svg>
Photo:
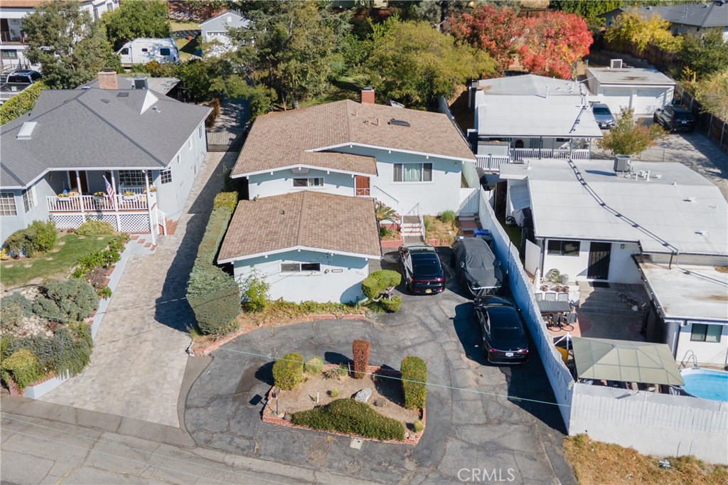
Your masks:
<svg viewBox="0 0 728 485"><path fill-rule="evenodd" d="M367 401L369 406L383 416L402 422L406 429L411 430L415 420L419 419L419 411L404 408L402 384L399 379L389 379L386 376L365 376L364 379L352 377L326 379L324 376L309 376L306 382L296 386L296 389L280 393L278 413L290 415L296 411L306 411L315 406L331 403L335 399L352 398L363 389L371 390L371 398ZM329 395L332 390L338 391L336 398Z"/></svg>

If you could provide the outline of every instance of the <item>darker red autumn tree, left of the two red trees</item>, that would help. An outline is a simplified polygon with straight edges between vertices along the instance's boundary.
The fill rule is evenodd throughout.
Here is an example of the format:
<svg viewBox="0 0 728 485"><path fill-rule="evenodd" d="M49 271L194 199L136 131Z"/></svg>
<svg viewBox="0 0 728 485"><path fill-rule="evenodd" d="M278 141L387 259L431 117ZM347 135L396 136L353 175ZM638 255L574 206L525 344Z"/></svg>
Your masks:
<svg viewBox="0 0 728 485"><path fill-rule="evenodd" d="M481 4L472 13L450 14L449 31L458 42L485 50L503 74L518 53L523 20L509 7Z"/></svg>

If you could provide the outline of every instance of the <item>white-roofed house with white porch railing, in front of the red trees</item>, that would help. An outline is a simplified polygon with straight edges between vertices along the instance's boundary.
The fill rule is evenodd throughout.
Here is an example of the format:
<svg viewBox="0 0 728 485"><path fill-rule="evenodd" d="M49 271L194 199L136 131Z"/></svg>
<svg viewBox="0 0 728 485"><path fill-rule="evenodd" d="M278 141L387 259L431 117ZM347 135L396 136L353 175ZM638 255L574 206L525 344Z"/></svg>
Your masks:
<svg viewBox="0 0 728 485"><path fill-rule="evenodd" d="M485 169L527 157L587 159L591 141L602 137L579 82L535 74L481 79L472 84L471 105Z"/></svg>

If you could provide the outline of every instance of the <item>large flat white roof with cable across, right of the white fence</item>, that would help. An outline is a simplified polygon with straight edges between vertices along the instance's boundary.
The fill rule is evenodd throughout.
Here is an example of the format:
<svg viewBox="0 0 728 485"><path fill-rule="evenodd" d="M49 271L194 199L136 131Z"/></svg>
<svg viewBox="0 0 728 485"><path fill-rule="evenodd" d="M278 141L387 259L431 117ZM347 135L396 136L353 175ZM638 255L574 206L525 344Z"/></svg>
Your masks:
<svg viewBox="0 0 728 485"><path fill-rule="evenodd" d="M612 160L571 163L501 165L501 178L526 176L537 237L638 242L644 253L728 254L728 204L688 167L632 162L635 173L650 171L646 181L615 174Z"/></svg>

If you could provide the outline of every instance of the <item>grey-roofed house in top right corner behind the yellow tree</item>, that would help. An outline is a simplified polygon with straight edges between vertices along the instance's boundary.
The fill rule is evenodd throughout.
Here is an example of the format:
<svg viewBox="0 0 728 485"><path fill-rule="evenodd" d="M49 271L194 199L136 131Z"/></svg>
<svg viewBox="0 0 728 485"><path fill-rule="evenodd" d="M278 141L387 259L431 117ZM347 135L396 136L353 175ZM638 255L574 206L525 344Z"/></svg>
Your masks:
<svg viewBox="0 0 728 485"><path fill-rule="evenodd" d="M703 35L708 28L719 28L723 31L723 39L728 42L728 1L713 0L695 4L654 5L649 7L619 8L610 10L604 17L606 26L612 25L617 15L625 10L635 11L646 17L659 15L670 22L673 35Z"/></svg>

